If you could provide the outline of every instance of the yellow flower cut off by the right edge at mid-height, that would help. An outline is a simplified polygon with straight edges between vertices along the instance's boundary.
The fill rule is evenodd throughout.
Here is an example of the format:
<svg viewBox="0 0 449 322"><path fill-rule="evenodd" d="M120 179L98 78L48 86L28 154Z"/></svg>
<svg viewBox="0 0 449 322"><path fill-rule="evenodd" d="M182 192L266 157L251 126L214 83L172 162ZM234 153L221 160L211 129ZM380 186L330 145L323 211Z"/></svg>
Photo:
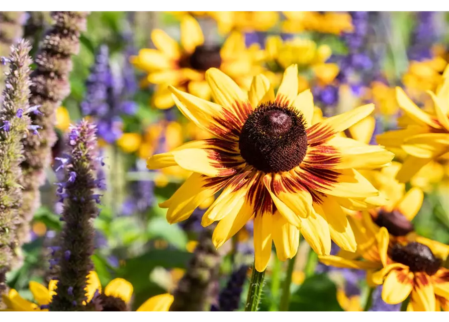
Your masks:
<svg viewBox="0 0 449 322"><path fill-rule="evenodd" d="M449 65L446 74L447 70ZM430 91L427 94L433 101L434 113L421 110L397 87L396 99L405 113L399 125L404 129L377 136L379 144L407 153L397 174L400 182L409 181L422 167L449 152L449 77L445 76L436 94Z"/></svg>

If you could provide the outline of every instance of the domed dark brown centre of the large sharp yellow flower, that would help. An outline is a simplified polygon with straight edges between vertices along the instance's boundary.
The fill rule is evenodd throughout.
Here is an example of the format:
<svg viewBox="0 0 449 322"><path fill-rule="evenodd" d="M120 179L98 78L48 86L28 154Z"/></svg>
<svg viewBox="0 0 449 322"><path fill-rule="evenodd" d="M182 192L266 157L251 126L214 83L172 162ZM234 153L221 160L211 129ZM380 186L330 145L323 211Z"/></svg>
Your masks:
<svg viewBox="0 0 449 322"><path fill-rule="evenodd" d="M288 106L261 104L248 116L238 145L246 163L257 170L290 171L306 156L304 117Z"/></svg>

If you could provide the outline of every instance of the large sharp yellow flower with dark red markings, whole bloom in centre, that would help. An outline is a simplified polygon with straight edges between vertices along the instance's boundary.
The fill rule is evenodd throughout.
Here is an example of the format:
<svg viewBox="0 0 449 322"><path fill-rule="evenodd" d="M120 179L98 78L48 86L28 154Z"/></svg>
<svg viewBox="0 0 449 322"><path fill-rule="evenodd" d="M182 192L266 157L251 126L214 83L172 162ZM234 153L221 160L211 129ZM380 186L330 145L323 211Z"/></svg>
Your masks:
<svg viewBox="0 0 449 322"><path fill-rule="evenodd" d="M167 201L170 223L186 220L205 199L223 189L203 216L218 248L254 217L255 268L265 270L274 241L281 260L295 256L299 233L318 254L331 238L348 251L355 239L341 204L370 202L379 192L355 169L387 166L393 154L337 134L367 117L373 105L311 124L310 90L298 94L292 65L275 96L258 75L248 94L216 68L206 72L211 103L173 87L177 107L214 139L186 143L147 161L150 170L179 165L194 172ZM367 199L368 198L368 199ZM331 214L331 215L330 215Z"/></svg>

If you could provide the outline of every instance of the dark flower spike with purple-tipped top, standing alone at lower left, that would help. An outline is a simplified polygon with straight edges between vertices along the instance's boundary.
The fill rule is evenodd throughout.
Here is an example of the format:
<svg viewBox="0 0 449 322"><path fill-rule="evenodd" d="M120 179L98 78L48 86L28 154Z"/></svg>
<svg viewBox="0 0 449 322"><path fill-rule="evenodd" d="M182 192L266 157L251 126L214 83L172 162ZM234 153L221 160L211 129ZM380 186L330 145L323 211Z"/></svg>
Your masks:
<svg viewBox="0 0 449 322"><path fill-rule="evenodd" d="M64 199L64 226L57 253L59 276L57 295L50 311L83 311L86 300L86 276L93 269L94 228L92 219L98 215L96 174L99 165L96 126L83 120L71 126L67 137L68 161L62 168L65 180L58 184Z"/></svg>

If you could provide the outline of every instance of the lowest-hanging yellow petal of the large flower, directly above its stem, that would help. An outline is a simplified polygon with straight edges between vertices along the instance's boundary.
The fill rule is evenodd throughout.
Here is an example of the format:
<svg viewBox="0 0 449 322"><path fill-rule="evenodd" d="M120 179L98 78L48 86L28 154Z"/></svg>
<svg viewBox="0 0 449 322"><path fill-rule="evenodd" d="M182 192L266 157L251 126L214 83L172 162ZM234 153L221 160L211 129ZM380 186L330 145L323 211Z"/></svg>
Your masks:
<svg viewBox="0 0 449 322"><path fill-rule="evenodd" d="M259 212L254 217L254 267L263 272L270 261L273 244L273 214Z"/></svg>

